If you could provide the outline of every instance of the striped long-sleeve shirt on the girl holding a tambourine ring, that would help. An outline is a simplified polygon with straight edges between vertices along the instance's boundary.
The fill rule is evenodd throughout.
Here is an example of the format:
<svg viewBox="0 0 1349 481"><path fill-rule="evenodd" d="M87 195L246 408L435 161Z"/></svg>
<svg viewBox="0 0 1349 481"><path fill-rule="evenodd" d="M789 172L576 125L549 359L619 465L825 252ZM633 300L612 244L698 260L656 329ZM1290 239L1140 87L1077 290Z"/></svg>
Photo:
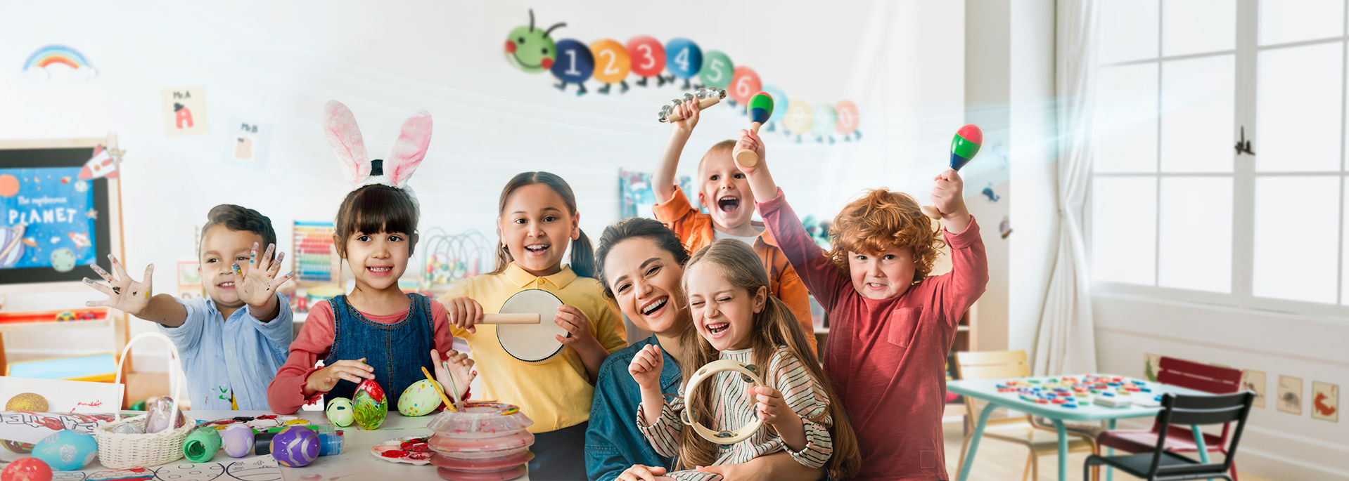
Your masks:
<svg viewBox="0 0 1349 481"><path fill-rule="evenodd" d="M745 364L753 364L753 357L750 349L723 350L720 356L723 360ZM782 400L786 402L786 406L801 416L801 424L805 427L805 447L800 451L792 451L777 435L777 431L765 424L749 439L734 445L722 445L714 465L741 463L764 454L788 451L801 465L824 466L834 453L834 441L828 431L834 426L834 420L828 416L830 399L824 389L811 379L809 372L786 346L778 346L768 369L759 372L768 373L765 381L782 392ZM707 380L707 383L712 383L710 392L715 399L712 404L714 419L699 419L700 423L715 431L723 431L735 430L754 420L755 399L747 393L749 388L753 387L751 383L746 383L737 372L716 373L716 377ZM683 387L680 393L687 395ZM660 419L656 419L654 423L646 422L642 416L642 408L637 408L637 427L661 455L679 454L679 432L684 428L684 423L676 412L683 408L684 399L676 397L673 403L665 404ZM822 414L824 418L820 423L811 420ZM666 476L680 481L716 478L716 474L699 472L673 472Z"/></svg>

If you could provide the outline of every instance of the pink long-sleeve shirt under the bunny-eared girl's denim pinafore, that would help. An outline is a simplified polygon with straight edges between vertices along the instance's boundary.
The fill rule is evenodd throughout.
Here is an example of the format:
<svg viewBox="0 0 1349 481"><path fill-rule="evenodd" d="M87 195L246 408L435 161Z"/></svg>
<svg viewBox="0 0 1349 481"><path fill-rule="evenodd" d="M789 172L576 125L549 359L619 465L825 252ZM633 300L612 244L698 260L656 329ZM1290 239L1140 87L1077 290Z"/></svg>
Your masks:
<svg viewBox="0 0 1349 481"><path fill-rule="evenodd" d="M409 306L407 309L411 309ZM360 313L366 319L379 323L395 323L407 317L407 311L390 315L374 315ZM455 337L449 333L449 311L440 302L430 302L430 319L434 329L436 350L445 356L455 349ZM267 406L277 414L293 414L301 406L321 402L324 392L316 392L305 397L305 379L314 371L314 362L328 357L328 350L333 346L333 306L328 300L321 300L309 309L305 325L295 334L295 341L290 342L290 356L286 364L277 371L277 377L267 387ZM429 352L409 352L407 356L430 356ZM398 393L394 393L398 396Z"/></svg>

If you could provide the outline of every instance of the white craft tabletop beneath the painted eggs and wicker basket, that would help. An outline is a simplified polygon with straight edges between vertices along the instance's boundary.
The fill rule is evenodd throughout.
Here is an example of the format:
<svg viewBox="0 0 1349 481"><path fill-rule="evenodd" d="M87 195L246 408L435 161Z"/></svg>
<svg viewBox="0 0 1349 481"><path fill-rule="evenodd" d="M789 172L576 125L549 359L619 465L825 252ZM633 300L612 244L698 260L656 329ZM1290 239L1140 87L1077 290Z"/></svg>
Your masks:
<svg viewBox="0 0 1349 481"><path fill-rule="evenodd" d="M271 414L266 411L186 411L189 416L198 420L216 420L233 416L259 416L264 414ZM309 419L313 424L331 424L328 418L324 416L322 411L299 411L294 414L295 416ZM370 454L370 449L384 441L406 438L406 437L424 437L432 434L426 424L434 419L434 415L426 415L421 418L406 418L398 411L389 411L389 418L384 419L384 424L375 431L363 431L355 424L341 428L343 431L343 453L336 455L321 455L314 459L313 463L305 468L286 468L281 466L281 474L285 480L295 481L359 481L359 480L397 480L397 481L440 481L440 476L436 474L434 465L414 466L407 463L395 463L389 461L376 459ZM8 450L0 449L0 461L13 461L26 455L15 454ZM246 458L231 458L221 450L216 454L212 462L231 462L231 461L248 461L255 457ZM189 463L186 458L178 459L175 465ZM85 466L84 470L103 470L101 463L97 461ZM62 480L62 477L57 477ZM519 478L521 481L527 481L529 474ZM260 481L260 480L259 480Z"/></svg>

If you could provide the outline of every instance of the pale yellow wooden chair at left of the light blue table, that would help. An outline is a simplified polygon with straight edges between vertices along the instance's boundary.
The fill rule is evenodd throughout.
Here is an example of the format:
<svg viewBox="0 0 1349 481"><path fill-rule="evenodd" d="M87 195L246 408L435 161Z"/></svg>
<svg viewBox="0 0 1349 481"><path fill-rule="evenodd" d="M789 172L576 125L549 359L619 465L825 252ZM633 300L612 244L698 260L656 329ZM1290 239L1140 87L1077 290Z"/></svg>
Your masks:
<svg viewBox="0 0 1349 481"><path fill-rule="evenodd" d="M1027 365L1025 350L956 352L955 375L959 379L969 380L1027 377L1031 376L1031 366ZM969 411L969 415L965 416L966 435L965 442L960 445L960 461L956 466L965 466L965 455L970 449L970 441L974 438L974 415L979 412L974 404L974 397L965 396L965 408ZM1070 437L1068 451L1097 453L1094 439L1090 435L1070 432ZM1039 478L1039 458L1041 455L1059 454L1058 432L1050 434L1036 428L1031 420L1031 415L989 419L983 426L983 438L1023 445L1029 450L1027 453L1025 470L1021 473L1023 481L1028 476L1031 480ZM960 477L959 468L955 477Z"/></svg>

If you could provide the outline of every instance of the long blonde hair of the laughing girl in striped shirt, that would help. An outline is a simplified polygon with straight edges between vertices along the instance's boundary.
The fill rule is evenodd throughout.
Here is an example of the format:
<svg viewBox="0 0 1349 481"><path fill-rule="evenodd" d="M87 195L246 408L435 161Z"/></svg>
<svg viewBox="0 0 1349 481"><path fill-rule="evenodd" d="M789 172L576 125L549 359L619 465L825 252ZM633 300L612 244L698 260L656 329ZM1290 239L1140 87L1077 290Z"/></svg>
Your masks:
<svg viewBox="0 0 1349 481"><path fill-rule="evenodd" d="M726 280L745 288L745 291L751 296L761 291L765 294L768 292L768 274L764 269L764 263L759 260L758 255L754 253L754 249L742 241L722 238L697 251L697 253L688 260L688 265L684 268L683 283L685 292L688 292L689 272L693 272L693 265L699 263L715 265ZM684 333L683 344L685 348L680 354L680 366L684 372L684 385L688 385L689 379L693 376L693 372L697 371L697 366L716 361L720 357L720 353L716 348L712 348L707 340L697 335L697 331L693 329ZM750 335L750 349L753 350L754 364L766 369L773 358L773 353L777 352L778 346L784 345L792 356L796 356L796 358L801 361L801 365L805 366L811 380L813 380L830 399L828 411L811 419L816 423L823 423L824 416L828 415L834 420L834 427L830 428L830 434L834 438L834 454L830 457L828 462L830 477L835 480L853 477L862 468L862 454L858 447L857 434L853 431L853 424L849 424L847 414L843 411L839 397L834 392L834 387L830 384L828 379L824 377L824 371L815 360L815 356L811 354L809 345L805 341L805 334L801 333L801 327L796 322L796 315L792 314L792 310L788 309L782 300L778 300L773 295L768 295L768 302L764 304L764 310L754 314L754 327L753 334ZM768 385L776 384L773 379L774 373L768 372L765 375L764 381ZM693 410L693 416L696 419L712 419L712 406L715 400L712 399L710 389L710 383L700 385L700 403L697 403L697 406L684 406L685 410ZM692 395L693 393L691 392L685 392L684 399L691 399ZM676 469L708 466L716 461L716 445L703 439L691 428L681 430L679 439L679 463Z"/></svg>

